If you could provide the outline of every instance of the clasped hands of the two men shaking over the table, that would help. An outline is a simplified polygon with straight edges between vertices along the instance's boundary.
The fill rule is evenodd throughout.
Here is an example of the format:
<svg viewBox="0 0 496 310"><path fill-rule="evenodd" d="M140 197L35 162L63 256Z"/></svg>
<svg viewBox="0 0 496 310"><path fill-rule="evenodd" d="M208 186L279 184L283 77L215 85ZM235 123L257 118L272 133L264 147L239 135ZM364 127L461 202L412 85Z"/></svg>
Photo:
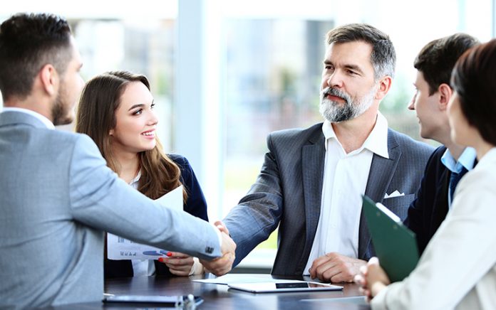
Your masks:
<svg viewBox="0 0 496 310"><path fill-rule="evenodd" d="M229 237L229 230L227 230L222 221L217 220L214 225L220 230L220 233L222 235L222 256L217 257L215 260L200 260L200 262L205 267L205 269L207 269L207 271L212 272L212 274L215 274L217 277L219 277L231 271L232 264L234 263L234 258L236 257L236 243L234 243L231 237Z"/></svg>

